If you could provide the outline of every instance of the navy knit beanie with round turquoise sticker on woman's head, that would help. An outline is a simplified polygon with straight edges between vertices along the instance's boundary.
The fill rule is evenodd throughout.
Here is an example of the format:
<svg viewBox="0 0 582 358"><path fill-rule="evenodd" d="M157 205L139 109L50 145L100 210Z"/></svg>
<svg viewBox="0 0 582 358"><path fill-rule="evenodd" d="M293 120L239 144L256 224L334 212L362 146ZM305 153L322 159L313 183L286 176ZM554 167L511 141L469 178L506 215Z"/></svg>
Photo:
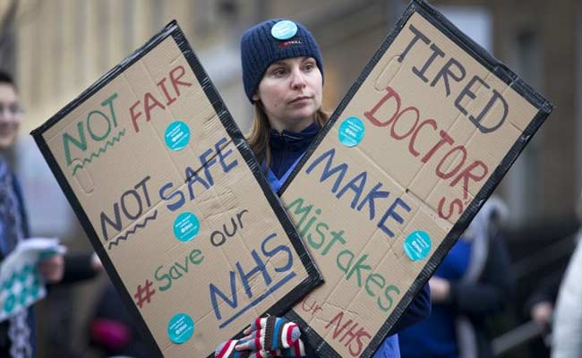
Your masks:
<svg viewBox="0 0 582 358"><path fill-rule="evenodd" d="M290 57L309 56L315 59L323 78L320 47L304 25L286 19L261 22L244 31L241 39L241 62L246 97L252 103L262 75L270 64Z"/></svg>

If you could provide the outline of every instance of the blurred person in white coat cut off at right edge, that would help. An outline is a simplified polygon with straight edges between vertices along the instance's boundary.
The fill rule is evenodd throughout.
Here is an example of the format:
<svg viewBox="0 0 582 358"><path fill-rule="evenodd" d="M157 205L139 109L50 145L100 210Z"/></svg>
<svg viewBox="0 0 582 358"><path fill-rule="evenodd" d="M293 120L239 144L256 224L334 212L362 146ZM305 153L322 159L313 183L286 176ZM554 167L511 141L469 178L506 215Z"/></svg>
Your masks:
<svg viewBox="0 0 582 358"><path fill-rule="evenodd" d="M576 214L578 228L576 250L561 282L553 320L552 358L582 357L582 192Z"/></svg>

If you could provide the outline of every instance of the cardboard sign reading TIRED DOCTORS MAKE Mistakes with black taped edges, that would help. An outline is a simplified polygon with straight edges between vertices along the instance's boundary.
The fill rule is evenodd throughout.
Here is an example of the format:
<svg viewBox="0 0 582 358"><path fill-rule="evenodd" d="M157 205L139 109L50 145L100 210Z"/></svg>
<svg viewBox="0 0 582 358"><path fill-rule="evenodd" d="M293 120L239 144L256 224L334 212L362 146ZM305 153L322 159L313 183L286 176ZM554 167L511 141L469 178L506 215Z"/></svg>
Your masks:
<svg viewBox="0 0 582 358"><path fill-rule="evenodd" d="M413 1L281 190L325 277L302 337L371 356L551 111Z"/></svg>

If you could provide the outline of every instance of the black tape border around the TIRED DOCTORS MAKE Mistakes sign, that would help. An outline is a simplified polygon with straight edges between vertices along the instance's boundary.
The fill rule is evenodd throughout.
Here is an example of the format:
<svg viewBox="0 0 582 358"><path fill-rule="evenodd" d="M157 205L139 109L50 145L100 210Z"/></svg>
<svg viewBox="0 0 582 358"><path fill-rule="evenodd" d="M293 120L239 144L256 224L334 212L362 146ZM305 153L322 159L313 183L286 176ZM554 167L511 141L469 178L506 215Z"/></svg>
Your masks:
<svg viewBox="0 0 582 358"><path fill-rule="evenodd" d="M404 29L407 21L414 13L419 13L431 22L438 30L441 30L449 39L455 42L458 47L463 48L467 54L471 55L476 61L482 64L485 68L493 72L501 81L511 86L513 90L518 92L523 98L525 98L532 106L538 109L538 112L532 119L532 121L527 125L523 134L518 138L506 156L501 160L500 166L496 167L492 172L492 175L484 183L481 190L475 196L475 199L467 206L463 214L458 218L457 223L451 228L441 245L432 254L430 260L424 265L424 268L416 277L415 283L410 286L407 293L404 294L402 300L398 303L397 307L389 315L389 318L384 322L382 327L378 330L376 335L372 337L370 344L364 349L364 352L360 355L361 357L367 358L372 357L372 354L380 347L381 343L388 336L390 329L398 321L400 316L404 311L406 311L408 305L415 299L416 294L424 287L428 282L428 279L432 276L434 270L441 264L441 261L447 255L452 246L457 242L458 236L462 234L466 227L471 223L476 213L481 209L485 200L487 200L492 192L495 190L497 185L501 182L503 176L508 172L509 167L518 158L519 153L525 148L526 144L531 140L535 132L543 124L545 118L552 112L552 104L543 98L540 94L535 92L525 81L521 80L517 74L509 70L509 68L502 64L499 60L490 55L483 47L480 47L471 38L468 38L464 33L458 30L455 25L453 25L449 20L447 20L441 13L439 13L432 5L428 4L424 0L412 0L408 4L406 11L403 13L401 18L398 20L394 30L389 33L389 36L381 44L381 47L373 55L372 59L368 64L365 65L363 72L360 74L358 79L355 81L354 85L347 91L346 97L342 99L338 107L331 115L330 122L326 124L312 145L307 149L304 158L298 163L294 171L289 175L287 182L281 187L279 195L282 195L289 186L289 183L293 182L295 175L297 175L302 169L304 164L312 156L313 151L319 146L323 138L330 132L331 127L336 124L339 116L342 114L344 109L347 107L351 99L354 97L357 90L364 80L368 77L370 72L372 72L373 67L378 64L381 56L388 50L389 46L392 44L395 38L397 38L400 30ZM304 338L309 342L310 345L325 357L338 357L339 355L330 345L328 345L323 337L321 337L314 329L308 326L295 311L289 311L287 313L287 318L289 320L294 320L299 323L304 330Z"/></svg>

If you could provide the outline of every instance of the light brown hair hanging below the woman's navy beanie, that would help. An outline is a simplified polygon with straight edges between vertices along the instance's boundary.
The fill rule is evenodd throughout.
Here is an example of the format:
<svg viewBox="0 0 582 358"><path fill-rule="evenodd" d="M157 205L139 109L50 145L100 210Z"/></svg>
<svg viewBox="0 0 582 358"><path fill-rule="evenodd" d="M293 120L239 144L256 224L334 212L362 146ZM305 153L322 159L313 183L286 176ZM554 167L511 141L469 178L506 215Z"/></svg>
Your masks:
<svg viewBox="0 0 582 358"><path fill-rule="evenodd" d="M247 135L247 141L251 144L251 149L259 163L266 164L265 168L270 167L270 124L269 118L262 108L261 101L254 103L254 119L252 121L251 132ZM314 122L321 128L330 120L330 113L322 107L315 112Z"/></svg>

